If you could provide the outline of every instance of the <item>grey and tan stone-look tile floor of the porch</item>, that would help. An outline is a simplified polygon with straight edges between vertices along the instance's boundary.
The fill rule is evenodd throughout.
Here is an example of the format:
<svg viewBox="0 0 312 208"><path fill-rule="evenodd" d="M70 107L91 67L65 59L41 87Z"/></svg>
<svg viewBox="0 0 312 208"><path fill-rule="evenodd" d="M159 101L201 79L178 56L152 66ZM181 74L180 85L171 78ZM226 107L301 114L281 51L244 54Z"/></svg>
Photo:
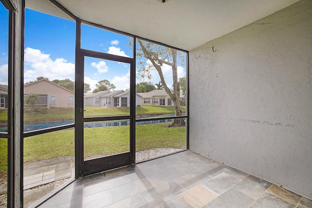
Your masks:
<svg viewBox="0 0 312 208"><path fill-rule="evenodd" d="M312 200L183 151L86 176L40 208L312 208Z"/></svg>

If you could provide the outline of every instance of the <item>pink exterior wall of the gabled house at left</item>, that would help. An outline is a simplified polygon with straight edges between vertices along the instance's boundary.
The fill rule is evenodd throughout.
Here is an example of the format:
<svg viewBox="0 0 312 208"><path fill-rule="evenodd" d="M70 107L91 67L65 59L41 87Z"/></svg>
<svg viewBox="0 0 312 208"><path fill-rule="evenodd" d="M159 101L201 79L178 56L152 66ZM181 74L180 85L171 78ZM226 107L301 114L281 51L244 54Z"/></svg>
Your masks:
<svg viewBox="0 0 312 208"><path fill-rule="evenodd" d="M48 94L48 106L50 108L74 108L74 104L68 104L68 96L74 96L74 93L69 92L49 81L38 81L30 85L24 86L24 94ZM50 103L51 96L56 96L56 104Z"/></svg>

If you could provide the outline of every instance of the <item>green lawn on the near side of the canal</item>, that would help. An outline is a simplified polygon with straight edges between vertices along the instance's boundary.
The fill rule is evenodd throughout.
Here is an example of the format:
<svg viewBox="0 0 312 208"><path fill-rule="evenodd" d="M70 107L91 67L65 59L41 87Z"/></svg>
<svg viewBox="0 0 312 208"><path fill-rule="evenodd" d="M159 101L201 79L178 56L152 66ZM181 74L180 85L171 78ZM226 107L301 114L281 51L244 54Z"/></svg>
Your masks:
<svg viewBox="0 0 312 208"><path fill-rule="evenodd" d="M185 127L168 123L137 125L136 150L185 148ZM84 156L129 151L129 126L84 129ZM24 162L74 155L74 130L62 130L24 138ZM0 139L0 172L7 171L7 139Z"/></svg>

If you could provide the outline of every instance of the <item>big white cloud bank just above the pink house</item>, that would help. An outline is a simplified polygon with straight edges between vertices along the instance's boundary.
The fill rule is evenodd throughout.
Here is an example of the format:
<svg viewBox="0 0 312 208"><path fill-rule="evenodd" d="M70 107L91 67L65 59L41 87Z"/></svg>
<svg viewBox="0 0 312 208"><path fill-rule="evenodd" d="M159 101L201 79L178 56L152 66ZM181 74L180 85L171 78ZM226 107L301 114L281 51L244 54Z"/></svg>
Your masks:
<svg viewBox="0 0 312 208"><path fill-rule="evenodd" d="M75 64L67 63L64 58L55 60L49 54L44 54L38 49L26 48L24 51L25 72L24 82L36 80L39 76L48 77L50 80L70 78L75 75Z"/></svg>

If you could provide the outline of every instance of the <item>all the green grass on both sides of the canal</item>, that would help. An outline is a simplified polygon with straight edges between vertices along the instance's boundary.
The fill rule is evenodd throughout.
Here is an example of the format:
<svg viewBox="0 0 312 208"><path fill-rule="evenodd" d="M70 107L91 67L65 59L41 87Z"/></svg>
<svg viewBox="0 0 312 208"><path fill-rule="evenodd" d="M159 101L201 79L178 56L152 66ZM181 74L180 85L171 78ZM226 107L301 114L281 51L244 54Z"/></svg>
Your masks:
<svg viewBox="0 0 312 208"><path fill-rule="evenodd" d="M185 112L185 107L181 107ZM85 117L127 115L128 107L85 106ZM137 116L175 113L173 106L142 106ZM24 113L25 123L74 120L74 109L49 109L47 114ZM7 110L0 110L0 125L7 122ZM168 123L136 126L137 151L185 146L185 127L167 128ZM84 129L84 156L129 151L129 126ZM24 138L24 162L74 154L74 130L50 132ZM0 138L0 172L7 170L7 139Z"/></svg>

